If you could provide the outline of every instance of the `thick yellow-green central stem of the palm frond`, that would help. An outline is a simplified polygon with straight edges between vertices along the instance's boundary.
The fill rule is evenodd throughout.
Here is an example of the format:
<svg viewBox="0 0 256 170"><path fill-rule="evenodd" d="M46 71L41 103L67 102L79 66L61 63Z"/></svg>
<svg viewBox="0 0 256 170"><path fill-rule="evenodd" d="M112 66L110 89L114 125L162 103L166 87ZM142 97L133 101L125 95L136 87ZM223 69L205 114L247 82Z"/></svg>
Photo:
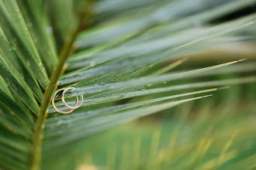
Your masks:
<svg viewBox="0 0 256 170"><path fill-rule="evenodd" d="M61 53L59 54L59 60L57 64L57 68L53 70L52 76L50 77L50 83L47 87L43 98L43 101L40 106L40 112L36 119L36 125L34 128L34 135L32 141L32 151L31 151L31 162L30 162L30 169L31 170L38 170L40 169L41 163L41 154L42 154L42 141L43 141L43 122L45 121L47 114L48 114L48 106L50 104L50 99L52 93L57 88L57 80L59 80L60 76L64 73L64 70L67 68L65 66L65 62L68 56L71 55L73 52L73 44L74 39L78 36L78 33L88 29L92 25L92 2L88 1L86 3L81 2L80 7L81 11L78 11L78 26L73 29L72 32L67 36L67 39L64 42L64 45L61 48ZM79 8L78 8L79 9Z"/></svg>

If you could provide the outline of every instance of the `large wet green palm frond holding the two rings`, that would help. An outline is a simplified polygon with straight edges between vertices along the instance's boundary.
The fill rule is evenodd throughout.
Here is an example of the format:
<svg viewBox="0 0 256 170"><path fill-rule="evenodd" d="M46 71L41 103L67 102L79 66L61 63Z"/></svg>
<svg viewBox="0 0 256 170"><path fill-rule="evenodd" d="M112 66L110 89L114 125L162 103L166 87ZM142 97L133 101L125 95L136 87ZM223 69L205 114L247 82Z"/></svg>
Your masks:
<svg viewBox="0 0 256 170"><path fill-rule="evenodd" d="M256 82L255 63L238 63L242 58L170 71L185 62L185 55L254 43L255 14L216 23L254 4L255 0L1 0L0 168L67 168L54 159L64 162L92 134L209 97L209 92L225 90L223 86ZM161 69L163 63L168 65ZM225 73L247 75L196 80ZM72 114L58 114L50 106L52 94L62 87L76 87L65 96L68 104L73 103L71 97L85 96ZM141 98L122 103L132 97ZM67 109L61 102L57 107ZM202 141L199 147L205 149L198 148L199 158L208 145Z"/></svg>

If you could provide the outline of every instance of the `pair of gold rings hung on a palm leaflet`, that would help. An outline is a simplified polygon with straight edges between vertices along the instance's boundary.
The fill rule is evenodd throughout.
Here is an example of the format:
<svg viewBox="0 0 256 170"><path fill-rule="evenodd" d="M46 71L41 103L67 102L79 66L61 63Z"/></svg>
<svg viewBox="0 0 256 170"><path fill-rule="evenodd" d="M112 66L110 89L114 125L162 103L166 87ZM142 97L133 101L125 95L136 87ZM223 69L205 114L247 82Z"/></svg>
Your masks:
<svg viewBox="0 0 256 170"><path fill-rule="evenodd" d="M75 89L74 87L68 87L68 88L66 88L66 89L60 89L60 90L57 90L56 91L56 93L54 93L54 97L53 97L53 99L51 100L52 101L52 104L53 104L53 107L54 107L54 109L57 111L57 112L59 112L60 114L70 114L72 111L74 111L75 109L77 109L78 107L80 107L81 106L81 104L83 103L83 100L84 100L84 97L83 97L83 95L81 95L80 97L80 104L78 104L78 97L76 97L76 101L75 101L75 105L74 105L74 107L71 107L71 106L69 106L67 103L66 103L66 101L65 101L65 99L64 99L64 95L65 95L65 93L67 92L67 90L71 90L71 89ZM70 110L67 110L67 111L62 111L62 110L59 110L56 106L55 106L55 102L54 102L54 100L55 100L55 97L57 96L57 93L60 93L61 91L63 91L62 92L62 97L61 97L61 100L62 100L62 102L63 102L63 104L66 106L66 107L68 107L68 108L70 108Z"/></svg>

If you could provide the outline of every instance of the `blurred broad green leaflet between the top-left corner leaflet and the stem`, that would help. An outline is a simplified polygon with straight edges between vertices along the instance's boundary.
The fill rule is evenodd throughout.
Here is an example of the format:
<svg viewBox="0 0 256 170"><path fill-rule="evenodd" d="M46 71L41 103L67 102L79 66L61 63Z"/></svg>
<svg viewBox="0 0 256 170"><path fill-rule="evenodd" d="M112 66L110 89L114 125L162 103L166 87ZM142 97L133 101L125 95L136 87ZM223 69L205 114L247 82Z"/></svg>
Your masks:
<svg viewBox="0 0 256 170"><path fill-rule="evenodd" d="M30 1L26 3L26 1L18 1L18 3L40 59L43 61L43 66L47 70L48 76L50 76L57 65L57 54L52 37L53 28L50 26L46 12L42 8L43 2Z"/></svg>

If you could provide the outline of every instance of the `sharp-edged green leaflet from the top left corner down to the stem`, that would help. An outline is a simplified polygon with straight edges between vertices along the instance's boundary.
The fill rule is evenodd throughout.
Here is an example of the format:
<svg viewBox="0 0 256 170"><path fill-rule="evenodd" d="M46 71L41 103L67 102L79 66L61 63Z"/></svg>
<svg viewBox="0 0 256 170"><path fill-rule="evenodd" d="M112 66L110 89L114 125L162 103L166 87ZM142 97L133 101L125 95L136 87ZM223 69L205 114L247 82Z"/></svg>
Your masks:
<svg viewBox="0 0 256 170"><path fill-rule="evenodd" d="M43 88L47 88L49 80L43 70L40 57L36 52L31 36L29 35L26 24L22 19L19 6L15 1L4 1L1 3L1 27L7 39L12 44L12 48L22 56L32 68L36 79Z"/></svg>

